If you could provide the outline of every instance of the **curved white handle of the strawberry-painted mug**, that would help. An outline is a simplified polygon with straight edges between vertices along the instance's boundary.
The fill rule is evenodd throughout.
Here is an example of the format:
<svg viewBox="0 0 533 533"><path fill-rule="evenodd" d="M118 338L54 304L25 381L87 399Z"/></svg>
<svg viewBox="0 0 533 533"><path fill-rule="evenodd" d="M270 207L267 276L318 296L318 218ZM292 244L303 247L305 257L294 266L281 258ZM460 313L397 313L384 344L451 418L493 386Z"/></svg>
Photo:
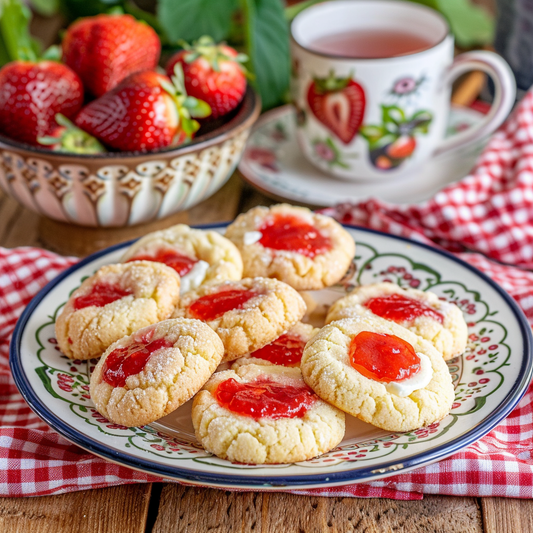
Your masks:
<svg viewBox="0 0 533 533"><path fill-rule="evenodd" d="M445 86L451 84L461 74L471 70L485 72L494 82L494 100L490 111L475 126L444 139L433 152L434 155L453 151L490 135L507 118L513 107L516 97L513 71L505 60L494 52L475 50L457 56L445 75Z"/></svg>

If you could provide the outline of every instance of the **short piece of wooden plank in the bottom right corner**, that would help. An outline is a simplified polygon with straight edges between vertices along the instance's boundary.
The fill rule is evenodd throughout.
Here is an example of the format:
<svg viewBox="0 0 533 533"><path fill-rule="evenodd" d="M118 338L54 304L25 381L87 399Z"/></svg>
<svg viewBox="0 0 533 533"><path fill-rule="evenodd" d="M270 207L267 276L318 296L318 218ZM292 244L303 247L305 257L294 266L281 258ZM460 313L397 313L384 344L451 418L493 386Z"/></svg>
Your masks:
<svg viewBox="0 0 533 533"><path fill-rule="evenodd" d="M484 533L531 533L533 501L481 498Z"/></svg>

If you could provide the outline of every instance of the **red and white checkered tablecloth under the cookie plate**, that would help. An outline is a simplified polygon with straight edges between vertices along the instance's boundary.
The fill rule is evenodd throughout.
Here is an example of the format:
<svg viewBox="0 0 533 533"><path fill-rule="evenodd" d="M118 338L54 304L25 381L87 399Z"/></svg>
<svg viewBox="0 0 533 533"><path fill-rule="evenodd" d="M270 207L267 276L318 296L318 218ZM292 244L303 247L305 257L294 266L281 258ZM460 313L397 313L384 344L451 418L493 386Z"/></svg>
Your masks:
<svg viewBox="0 0 533 533"><path fill-rule="evenodd" d="M533 324L533 93L496 133L475 170L421 205L378 200L326 210L337 219L443 246L487 273ZM469 251L466 251L469 250ZM476 253L478 252L478 253ZM505 266L492 261L491 256ZM70 444L31 412L8 366L9 339L33 295L74 259L0 248L0 495L59 494L161 481ZM498 427L454 456L383 481L292 491L421 499L423 494L533 498L533 387Z"/></svg>

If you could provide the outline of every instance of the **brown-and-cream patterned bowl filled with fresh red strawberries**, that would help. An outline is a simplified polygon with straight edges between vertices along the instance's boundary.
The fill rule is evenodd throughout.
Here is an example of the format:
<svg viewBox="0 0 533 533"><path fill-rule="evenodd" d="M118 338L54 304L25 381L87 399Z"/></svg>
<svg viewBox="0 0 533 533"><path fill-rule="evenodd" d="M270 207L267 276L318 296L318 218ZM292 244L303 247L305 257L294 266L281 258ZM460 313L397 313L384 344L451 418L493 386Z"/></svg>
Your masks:
<svg viewBox="0 0 533 533"><path fill-rule="evenodd" d="M205 200L233 173L261 109L242 56L224 46L213 47L220 76L214 68L194 83L203 59L190 59L192 49L166 76L154 30L98 15L67 28L57 61L4 66L0 188L40 215L93 227L142 224ZM218 88L216 120L198 83Z"/></svg>

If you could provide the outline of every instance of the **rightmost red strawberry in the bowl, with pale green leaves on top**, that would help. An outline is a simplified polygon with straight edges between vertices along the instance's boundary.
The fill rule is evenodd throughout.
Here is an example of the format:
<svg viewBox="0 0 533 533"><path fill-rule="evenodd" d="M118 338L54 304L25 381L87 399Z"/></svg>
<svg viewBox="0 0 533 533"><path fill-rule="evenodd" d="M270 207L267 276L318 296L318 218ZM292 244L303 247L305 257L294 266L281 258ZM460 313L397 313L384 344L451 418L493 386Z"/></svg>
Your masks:
<svg viewBox="0 0 533 533"><path fill-rule="evenodd" d="M216 44L207 36L184 47L170 58L167 74L172 76L174 67L180 64L187 93L207 102L213 118L235 109L246 91L246 71L242 63L248 58L230 46Z"/></svg>

